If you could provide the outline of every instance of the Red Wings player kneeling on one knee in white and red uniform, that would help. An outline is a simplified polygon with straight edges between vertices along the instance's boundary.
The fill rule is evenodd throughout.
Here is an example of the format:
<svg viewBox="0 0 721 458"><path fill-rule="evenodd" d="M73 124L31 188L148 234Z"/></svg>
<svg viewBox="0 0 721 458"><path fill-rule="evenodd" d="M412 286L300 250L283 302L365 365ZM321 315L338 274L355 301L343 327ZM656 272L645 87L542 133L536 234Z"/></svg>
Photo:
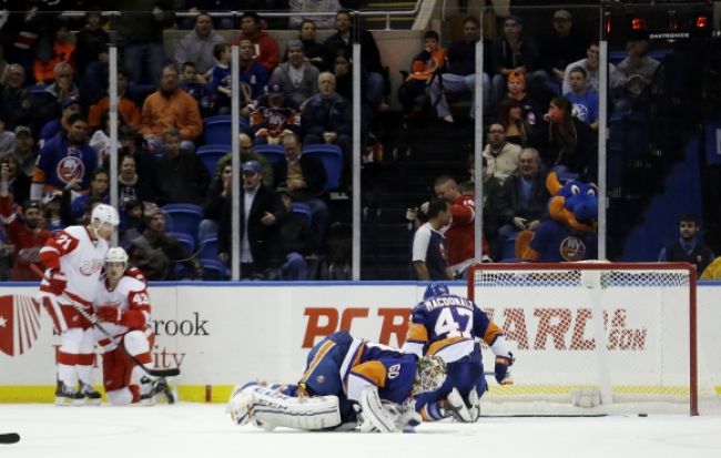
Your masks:
<svg viewBox="0 0 721 458"><path fill-rule="evenodd" d="M128 268L128 254L121 247L108 250L105 276L101 278L93 301L95 316L103 322L104 330L98 333L98 345L103 350L103 386L113 405L138 401L151 404L155 395L174 398L164 379L150 380L119 347L145 365L152 363L150 350L155 335L146 327L151 304L145 283L138 278L136 269ZM142 276L141 276L142 277Z"/></svg>

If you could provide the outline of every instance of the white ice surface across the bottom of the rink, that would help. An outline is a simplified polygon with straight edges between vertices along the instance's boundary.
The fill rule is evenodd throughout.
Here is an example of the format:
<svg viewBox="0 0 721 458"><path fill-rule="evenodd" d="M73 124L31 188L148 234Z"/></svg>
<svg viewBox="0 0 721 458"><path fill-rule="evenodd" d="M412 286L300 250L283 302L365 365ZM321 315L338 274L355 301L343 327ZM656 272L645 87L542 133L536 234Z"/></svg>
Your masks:
<svg viewBox="0 0 721 458"><path fill-rule="evenodd" d="M220 404L154 407L0 405L0 458L177 457L721 457L721 417L488 418L425 424L416 434L237 427Z"/></svg>

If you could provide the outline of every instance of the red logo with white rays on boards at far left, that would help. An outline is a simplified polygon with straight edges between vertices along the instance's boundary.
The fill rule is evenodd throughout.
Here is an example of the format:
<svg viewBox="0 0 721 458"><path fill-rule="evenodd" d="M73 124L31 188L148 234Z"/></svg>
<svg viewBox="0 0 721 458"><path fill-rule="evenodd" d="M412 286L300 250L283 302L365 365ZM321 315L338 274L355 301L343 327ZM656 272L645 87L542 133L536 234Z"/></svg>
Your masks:
<svg viewBox="0 0 721 458"><path fill-rule="evenodd" d="M0 296L0 352L18 356L40 336L40 305L28 296Z"/></svg>

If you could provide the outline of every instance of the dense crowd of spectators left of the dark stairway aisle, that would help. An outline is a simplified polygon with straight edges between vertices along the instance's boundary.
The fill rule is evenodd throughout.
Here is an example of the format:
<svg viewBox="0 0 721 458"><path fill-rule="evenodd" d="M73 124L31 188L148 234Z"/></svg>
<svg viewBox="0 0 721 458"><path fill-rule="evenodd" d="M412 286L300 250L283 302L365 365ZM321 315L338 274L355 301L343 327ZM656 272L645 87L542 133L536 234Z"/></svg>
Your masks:
<svg viewBox="0 0 721 458"><path fill-rule="evenodd" d="M23 11L26 22L2 30L0 154L7 173L0 197L2 258L14 263L10 277L33 279L27 265L21 268L28 248L81 222L94 204L109 202L109 45L114 33L120 51L119 240L131 259L150 279L200 278L207 272L197 253L215 250L214 257L225 265L214 274L227 277L232 265L230 136L216 145L226 154L212 167L196 151L207 143L205 121L230 114L232 91L237 88L244 118L238 259L243 276L305 279L305 257L323 253L331 214L325 165L304 155L304 146L337 145L343 157L339 166L351 163L351 71L338 77L346 77L346 96L336 92L335 72L336 54L349 54L351 14L341 11L337 0L292 1L285 9L308 16L293 17L291 26L298 29L298 39L281 50L265 31L268 22L255 12L236 22L205 12L234 9L230 3L189 2L187 10L197 12L192 22L179 18L171 2L139 0L133 7L112 23L100 9L91 9L78 23L72 17L29 6ZM258 2L258 10L264 7ZM339 11L337 17L317 16L334 11ZM215 26L233 29L235 24L240 33L227 42L215 31ZM317 28L336 24L336 35L326 43L315 41ZM175 43L174 55L166 57L163 30L179 26L192 30ZM363 33L373 52L368 65L376 73L369 80L378 105L386 82L378 73L383 68L373 35ZM240 49L240 81L231 75L233 44ZM364 116L369 119L374 110L377 106ZM260 145L276 145L284 159L255 152ZM173 205L190 205L201 214L190 240L189 234L174 232L177 224L169 210ZM19 231L30 234L20 243ZM28 244L32 246L23 246Z"/></svg>

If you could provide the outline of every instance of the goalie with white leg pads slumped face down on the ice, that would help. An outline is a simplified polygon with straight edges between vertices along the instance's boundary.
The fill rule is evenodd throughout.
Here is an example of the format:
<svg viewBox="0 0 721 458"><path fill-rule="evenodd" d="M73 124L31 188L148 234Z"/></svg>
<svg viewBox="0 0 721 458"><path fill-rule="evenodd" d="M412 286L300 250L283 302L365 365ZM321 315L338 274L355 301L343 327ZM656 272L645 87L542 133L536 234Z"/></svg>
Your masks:
<svg viewBox="0 0 721 458"><path fill-rule="evenodd" d="M237 425L273 429L338 429L394 432L417 425L414 396L444 385L446 364L334 333L315 345L295 385L251 383L231 394L227 413Z"/></svg>

